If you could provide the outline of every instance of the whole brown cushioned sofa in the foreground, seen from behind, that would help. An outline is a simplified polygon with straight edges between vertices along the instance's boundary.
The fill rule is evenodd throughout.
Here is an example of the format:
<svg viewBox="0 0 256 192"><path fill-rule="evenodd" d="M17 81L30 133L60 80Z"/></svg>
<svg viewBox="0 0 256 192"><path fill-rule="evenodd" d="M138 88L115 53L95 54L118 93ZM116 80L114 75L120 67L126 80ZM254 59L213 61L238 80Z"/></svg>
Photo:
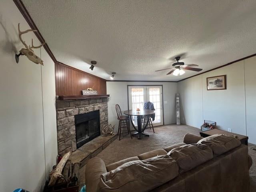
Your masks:
<svg viewBox="0 0 256 192"><path fill-rule="evenodd" d="M108 166L90 159L86 191L245 192L250 160L248 146L232 136L186 134L182 143Z"/></svg>

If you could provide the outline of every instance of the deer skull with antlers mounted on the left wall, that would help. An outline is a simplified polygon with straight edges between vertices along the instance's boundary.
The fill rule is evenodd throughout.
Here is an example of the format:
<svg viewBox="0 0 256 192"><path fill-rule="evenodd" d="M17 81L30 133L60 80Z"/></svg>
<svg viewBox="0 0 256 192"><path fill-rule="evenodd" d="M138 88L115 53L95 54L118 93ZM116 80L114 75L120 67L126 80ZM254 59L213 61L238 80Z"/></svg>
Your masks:
<svg viewBox="0 0 256 192"><path fill-rule="evenodd" d="M22 38L21 38L21 35L22 35L22 34L27 33L27 32L30 32L30 31L37 31L37 30L28 29L28 30L26 30L26 31L20 31L20 24L18 24L18 31L19 31L19 38L20 38L20 41L22 42L22 44L23 44L26 48L22 48L22 49L20 50L20 54L18 54L18 55L16 54L16 62L18 63L18 61L19 61L18 57L19 57L20 55L26 55L27 58L28 58L30 61L32 61L32 62L34 62L34 63L36 63L36 64L39 64L39 63L40 63L41 65L44 65L44 64L43 64L43 60L42 60L41 58L39 58L38 56L36 56L36 54L34 53L34 51L33 51L32 49L33 49L33 48L36 49L36 48L42 47L42 46L45 44L45 42L44 42L43 44L41 44L40 46L34 46L34 45L33 45L33 39L32 39L32 43L31 43L31 47L30 47L30 45L28 46L28 45L25 43L25 41L23 41Z"/></svg>

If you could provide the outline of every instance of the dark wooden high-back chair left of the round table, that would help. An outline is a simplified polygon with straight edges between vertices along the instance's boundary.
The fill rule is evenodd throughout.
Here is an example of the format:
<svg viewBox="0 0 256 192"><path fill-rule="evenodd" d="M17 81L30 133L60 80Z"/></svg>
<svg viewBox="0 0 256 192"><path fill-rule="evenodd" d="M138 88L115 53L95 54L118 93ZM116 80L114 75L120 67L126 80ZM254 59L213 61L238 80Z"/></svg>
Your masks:
<svg viewBox="0 0 256 192"><path fill-rule="evenodd" d="M116 114L117 114L117 119L119 120L118 131L117 131L117 135L119 134L119 140L121 138L121 131L126 131L126 130L122 130L122 128L127 128L128 134L130 134L132 138L132 134L130 131L129 116L122 115L120 106L118 104L116 104Z"/></svg>

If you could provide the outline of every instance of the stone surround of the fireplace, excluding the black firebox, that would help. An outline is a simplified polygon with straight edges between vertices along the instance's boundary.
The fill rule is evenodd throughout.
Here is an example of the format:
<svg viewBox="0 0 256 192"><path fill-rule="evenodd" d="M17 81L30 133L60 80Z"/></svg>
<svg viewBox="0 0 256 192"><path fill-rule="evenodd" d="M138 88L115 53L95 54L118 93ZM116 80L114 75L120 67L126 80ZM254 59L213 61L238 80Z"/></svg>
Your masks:
<svg viewBox="0 0 256 192"><path fill-rule="evenodd" d="M76 151L75 115L99 110L100 130L102 130L104 125L108 124L107 101L107 98L56 99L58 154L63 155L69 151Z"/></svg>

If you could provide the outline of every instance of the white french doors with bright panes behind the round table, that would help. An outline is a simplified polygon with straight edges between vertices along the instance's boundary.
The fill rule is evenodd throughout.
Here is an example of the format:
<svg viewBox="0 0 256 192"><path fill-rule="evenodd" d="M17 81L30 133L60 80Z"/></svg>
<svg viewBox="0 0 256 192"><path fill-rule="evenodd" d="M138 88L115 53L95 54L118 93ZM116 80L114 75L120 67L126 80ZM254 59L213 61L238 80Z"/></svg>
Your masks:
<svg viewBox="0 0 256 192"><path fill-rule="evenodd" d="M163 125L163 101L162 86L128 86L129 109L143 109L144 103L150 101L154 104L155 120L154 126ZM137 125L137 117L132 116L134 125Z"/></svg>

